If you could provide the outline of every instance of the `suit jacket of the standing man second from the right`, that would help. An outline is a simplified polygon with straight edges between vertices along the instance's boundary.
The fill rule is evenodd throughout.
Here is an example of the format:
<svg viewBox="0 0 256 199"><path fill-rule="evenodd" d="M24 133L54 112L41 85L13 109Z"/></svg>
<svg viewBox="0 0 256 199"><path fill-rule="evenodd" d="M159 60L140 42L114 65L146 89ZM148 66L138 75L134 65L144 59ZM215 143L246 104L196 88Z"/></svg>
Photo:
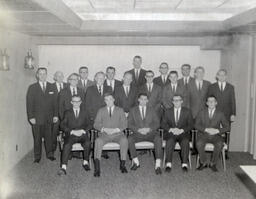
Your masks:
<svg viewBox="0 0 256 199"><path fill-rule="evenodd" d="M200 110L206 107L206 97L210 85L211 83L209 81L203 80L201 91L197 89L196 80L193 80L189 85L189 108L192 111L194 119Z"/></svg>

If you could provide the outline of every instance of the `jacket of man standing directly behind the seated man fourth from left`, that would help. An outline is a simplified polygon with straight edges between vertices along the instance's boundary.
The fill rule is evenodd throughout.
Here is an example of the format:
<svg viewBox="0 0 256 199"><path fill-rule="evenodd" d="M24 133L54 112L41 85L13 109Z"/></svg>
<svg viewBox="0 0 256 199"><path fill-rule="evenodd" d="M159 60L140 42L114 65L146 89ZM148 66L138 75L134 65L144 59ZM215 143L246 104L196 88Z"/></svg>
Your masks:
<svg viewBox="0 0 256 199"><path fill-rule="evenodd" d="M183 98L183 107L188 107L188 96L184 86L177 84L176 92L172 91L171 83L163 89L163 106L165 109L173 107L172 98L175 94L181 95Z"/></svg>

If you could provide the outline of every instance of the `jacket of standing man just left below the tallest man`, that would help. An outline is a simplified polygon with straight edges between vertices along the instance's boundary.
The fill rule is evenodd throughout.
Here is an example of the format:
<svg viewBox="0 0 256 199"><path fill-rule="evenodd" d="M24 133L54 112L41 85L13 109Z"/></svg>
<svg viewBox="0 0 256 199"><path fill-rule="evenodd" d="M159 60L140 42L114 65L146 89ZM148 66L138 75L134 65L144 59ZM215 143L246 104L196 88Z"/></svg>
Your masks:
<svg viewBox="0 0 256 199"><path fill-rule="evenodd" d="M134 85L130 85L130 91L128 96L125 94L123 85L118 86L114 92L115 105L124 109L124 112L130 112L130 109L137 103L137 88Z"/></svg>

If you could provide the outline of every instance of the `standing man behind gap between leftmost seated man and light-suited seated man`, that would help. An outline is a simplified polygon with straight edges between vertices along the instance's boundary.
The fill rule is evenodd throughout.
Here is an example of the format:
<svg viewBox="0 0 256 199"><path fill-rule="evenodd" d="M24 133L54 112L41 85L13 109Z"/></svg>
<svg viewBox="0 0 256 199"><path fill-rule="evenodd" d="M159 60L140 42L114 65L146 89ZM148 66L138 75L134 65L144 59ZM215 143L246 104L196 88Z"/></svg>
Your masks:
<svg viewBox="0 0 256 199"><path fill-rule="evenodd" d="M104 80L105 74L103 72L97 72L95 74L96 84L90 86L85 95L85 107L88 110L91 125L94 124L98 110L106 105L104 94L112 92L111 87L104 86Z"/></svg>

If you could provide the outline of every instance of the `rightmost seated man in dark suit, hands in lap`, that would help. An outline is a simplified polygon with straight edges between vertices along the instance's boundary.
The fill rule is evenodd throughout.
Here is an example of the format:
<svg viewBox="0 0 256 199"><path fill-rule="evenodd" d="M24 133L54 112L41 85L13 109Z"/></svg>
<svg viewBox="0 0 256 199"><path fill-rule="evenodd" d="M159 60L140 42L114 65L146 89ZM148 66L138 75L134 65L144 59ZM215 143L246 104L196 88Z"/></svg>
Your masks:
<svg viewBox="0 0 256 199"><path fill-rule="evenodd" d="M207 143L211 143L214 145L214 150L209 166L212 171L217 172L217 158L221 153L224 142L222 134L229 131L230 126L223 112L216 109L217 100L215 96L208 96L206 104L208 108L205 108L199 112L195 123L195 129L198 130L196 147L200 157L200 166L197 169L203 170L208 166L206 160L205 145Z"/></svg>

